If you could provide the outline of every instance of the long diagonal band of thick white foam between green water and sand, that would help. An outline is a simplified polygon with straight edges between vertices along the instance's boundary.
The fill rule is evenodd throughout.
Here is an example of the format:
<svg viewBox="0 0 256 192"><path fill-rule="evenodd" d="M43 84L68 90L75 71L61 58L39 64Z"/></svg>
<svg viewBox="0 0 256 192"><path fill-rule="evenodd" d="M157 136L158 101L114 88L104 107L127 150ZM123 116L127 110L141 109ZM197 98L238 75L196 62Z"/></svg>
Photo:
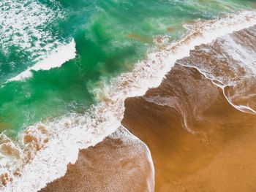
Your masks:
<svg viewBox="0 0 256 192"><path fill-rule="evenodd" d="M252 11L219 20L197 21L183 39L148 54L146 60L135 64L132 72L119 75L102 89L95 89L99 104L85 115L72 113L29 126L20 133L17 142L2 135L2 190L38 191L63 176L67 164L77 160L79 149L96 145L116 131L124 116L127 97L143 96L148 88L157 87L175 61L189 56L197 45L255 24L256 12Z"/></svg>

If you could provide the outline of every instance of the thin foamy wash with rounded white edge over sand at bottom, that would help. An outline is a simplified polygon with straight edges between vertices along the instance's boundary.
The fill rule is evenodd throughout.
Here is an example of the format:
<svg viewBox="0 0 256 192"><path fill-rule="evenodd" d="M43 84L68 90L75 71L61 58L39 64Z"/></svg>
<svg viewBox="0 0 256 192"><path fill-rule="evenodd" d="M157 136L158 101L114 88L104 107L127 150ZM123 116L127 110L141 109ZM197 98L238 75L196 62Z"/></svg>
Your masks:
<svg viewBox="0 0 256 192"><path fill-rule="evenodd" d="M80 150L64 177L45 191L154 191L154 167L146 145L119 128L94 147Z"/></svg>

